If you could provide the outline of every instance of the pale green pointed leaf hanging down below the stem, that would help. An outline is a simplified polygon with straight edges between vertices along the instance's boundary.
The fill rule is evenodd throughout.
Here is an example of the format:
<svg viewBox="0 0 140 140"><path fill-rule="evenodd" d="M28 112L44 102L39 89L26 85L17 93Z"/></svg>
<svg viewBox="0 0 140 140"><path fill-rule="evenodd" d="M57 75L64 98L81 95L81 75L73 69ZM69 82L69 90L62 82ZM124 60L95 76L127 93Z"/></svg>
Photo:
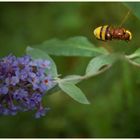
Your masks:
<svg viewBox="0 0 140 140"><path fill-rule="evenodd" d="M89 104L89 101L87 100L86 96L81 91L81 89L75 86L73 83L59 82L59 87L61 88L62 91L67 93L75 101L82 104Z"/></svg>

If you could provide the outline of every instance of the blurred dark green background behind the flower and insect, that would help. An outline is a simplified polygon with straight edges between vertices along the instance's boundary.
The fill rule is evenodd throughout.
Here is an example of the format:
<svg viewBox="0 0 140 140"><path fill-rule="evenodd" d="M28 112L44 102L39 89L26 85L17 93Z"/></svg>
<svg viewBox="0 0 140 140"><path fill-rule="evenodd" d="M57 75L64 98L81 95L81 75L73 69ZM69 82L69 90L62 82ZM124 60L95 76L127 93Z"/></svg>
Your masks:
<svg viewBox="0 0 140 140"><path fill-rule="evenodd" d="M120 2L0 3L0 57L25 54L25 48L51 38L86 36L97 47L133 53L139 47L140 21L131 13L124 27L131 42L101 42L93 36L100 25L120 25L129 9ZM84 74L91 58L54 57L63 76ZM82 105L59 92L45 96L51 111L41 119L33 112L0 116L0 137L140 137L140 70L117 62L110 70L78 85L90 100Z"/></svg>

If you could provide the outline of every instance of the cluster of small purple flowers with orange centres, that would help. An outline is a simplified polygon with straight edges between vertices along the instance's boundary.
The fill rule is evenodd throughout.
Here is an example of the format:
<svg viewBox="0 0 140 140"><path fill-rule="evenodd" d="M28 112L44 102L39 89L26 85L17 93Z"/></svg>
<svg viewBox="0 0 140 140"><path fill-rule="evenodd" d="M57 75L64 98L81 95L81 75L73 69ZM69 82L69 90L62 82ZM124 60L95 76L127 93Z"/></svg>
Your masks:
<svg viewBox="0 0 140 140"><path fill-rule="evenodd" d="M36 110L35 117L44 116L48 108L41 104L46 91L54 86L50 61L30 56L9 55L0 59L0 114L16 115L20 111Z"/></svg>

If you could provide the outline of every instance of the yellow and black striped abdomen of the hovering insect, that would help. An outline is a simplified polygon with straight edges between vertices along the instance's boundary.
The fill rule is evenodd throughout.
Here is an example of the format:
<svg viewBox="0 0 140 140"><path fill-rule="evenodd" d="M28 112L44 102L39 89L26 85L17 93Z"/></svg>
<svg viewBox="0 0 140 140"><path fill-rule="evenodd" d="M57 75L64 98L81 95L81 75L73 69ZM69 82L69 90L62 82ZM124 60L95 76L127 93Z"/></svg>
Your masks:
<svg viewBox="0 0 140 140"><path fill-rule="evenodd" d="M97 39L100 39L100 40L103 40L105 41L106 40L106 33L107 33L107 29L108 29L108 25L104 25L104 26L100 26L100 27L97 27L95 30L94 30L94 35Z"/></svg>

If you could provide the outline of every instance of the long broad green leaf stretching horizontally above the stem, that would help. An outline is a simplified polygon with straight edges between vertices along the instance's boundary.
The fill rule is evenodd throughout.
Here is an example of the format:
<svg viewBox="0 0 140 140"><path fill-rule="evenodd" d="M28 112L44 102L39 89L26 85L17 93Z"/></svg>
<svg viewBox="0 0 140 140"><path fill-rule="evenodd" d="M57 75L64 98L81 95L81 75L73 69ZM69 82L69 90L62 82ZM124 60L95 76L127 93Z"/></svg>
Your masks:
<svg viewBox="0 0 140 140"><path fill-rule="evenodd" d="M67 40L51 39L42 44L33 46L51 55L61 56L87 56L94 57L108 54L104 48L97 48L85 37L72 37Z"/></svg>

